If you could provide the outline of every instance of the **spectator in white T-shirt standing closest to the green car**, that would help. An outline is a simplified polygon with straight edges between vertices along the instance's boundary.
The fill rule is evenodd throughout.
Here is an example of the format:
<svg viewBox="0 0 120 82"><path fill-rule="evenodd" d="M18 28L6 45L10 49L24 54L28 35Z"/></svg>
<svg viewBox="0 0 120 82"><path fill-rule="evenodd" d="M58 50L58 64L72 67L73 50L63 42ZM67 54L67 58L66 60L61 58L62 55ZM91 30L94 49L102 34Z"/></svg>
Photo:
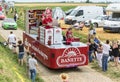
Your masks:
<svg viewBox="0 0 120 82"><path fill-rule="evenodd" d="M16 53L16 36L13 34L13 32L10 32L10 35L8 36L8 44L9 48L12 49L13 53Z"/></svg>

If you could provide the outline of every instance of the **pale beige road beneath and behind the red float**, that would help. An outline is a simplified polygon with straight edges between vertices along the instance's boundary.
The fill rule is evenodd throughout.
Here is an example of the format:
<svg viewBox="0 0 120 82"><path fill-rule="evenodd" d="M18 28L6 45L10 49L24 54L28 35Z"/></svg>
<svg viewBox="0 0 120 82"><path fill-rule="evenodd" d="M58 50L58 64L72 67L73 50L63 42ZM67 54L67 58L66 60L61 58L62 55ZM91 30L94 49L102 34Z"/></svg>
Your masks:
<svg viewBox="0 0 120 82"><path fill-rule="evenodd" d="M7 40L10 31L11 30L4 30L0 28L0 34L5 40ZM22 40L22 30L18 29L12 31L17 36L17 39ZM71 69L52 70L39 63L39 74L45 82L62 82L59 76L61 73L67 73L69 75L69 82L113 82L110 78L102 75L99 72L96 72L89 66L82 66Z"/></svg>

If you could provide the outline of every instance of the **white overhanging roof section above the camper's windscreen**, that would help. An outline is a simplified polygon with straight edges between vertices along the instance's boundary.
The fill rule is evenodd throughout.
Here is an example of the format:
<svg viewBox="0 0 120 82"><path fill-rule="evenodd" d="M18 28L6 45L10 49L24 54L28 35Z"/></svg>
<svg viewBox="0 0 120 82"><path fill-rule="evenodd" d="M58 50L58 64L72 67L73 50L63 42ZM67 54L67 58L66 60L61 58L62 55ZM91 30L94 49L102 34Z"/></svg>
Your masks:
<svg viewBox="0 0 120 82"><path fill-rule="evenodd" d="M109 4L106 11L120 12L120 3Z"/></svg>

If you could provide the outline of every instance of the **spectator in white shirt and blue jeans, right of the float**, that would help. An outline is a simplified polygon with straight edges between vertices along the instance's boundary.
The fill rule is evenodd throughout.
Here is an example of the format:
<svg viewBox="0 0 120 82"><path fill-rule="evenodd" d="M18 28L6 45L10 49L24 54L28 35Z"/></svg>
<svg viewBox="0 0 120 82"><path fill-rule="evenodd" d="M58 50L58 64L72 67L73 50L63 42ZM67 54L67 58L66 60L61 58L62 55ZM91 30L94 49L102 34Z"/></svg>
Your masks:
<svg viewBox="0 0 120 82"><path fill-rule="evenodd" d="M102 43L103 45L103 57L102 57L102 70L105 72L108 68L108 57L110 51L109 40L106 40L106 43Z"/></svg>

